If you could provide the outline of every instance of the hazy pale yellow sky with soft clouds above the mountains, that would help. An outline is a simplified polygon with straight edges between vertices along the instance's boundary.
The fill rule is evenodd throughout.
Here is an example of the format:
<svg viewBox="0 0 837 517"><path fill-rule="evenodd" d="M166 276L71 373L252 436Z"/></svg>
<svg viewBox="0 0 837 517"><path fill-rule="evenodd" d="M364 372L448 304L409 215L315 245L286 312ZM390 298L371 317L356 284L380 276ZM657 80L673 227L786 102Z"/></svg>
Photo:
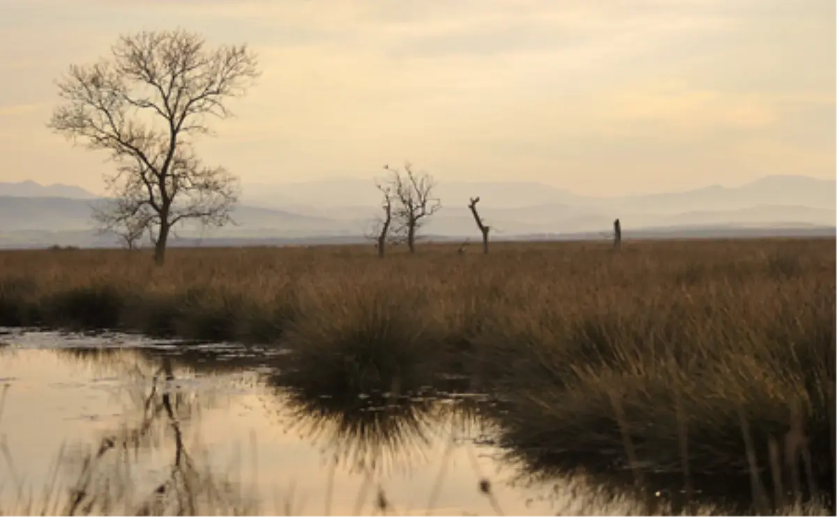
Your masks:
<svg viewBox="0 0 837 517"><path fill-rule="evenodd" d="M249 43L263 76L203 141L245 182L534 180L580 193L837 178L834 0L0 0L0 180L101 188L45 128L120 33Z"/></svg>

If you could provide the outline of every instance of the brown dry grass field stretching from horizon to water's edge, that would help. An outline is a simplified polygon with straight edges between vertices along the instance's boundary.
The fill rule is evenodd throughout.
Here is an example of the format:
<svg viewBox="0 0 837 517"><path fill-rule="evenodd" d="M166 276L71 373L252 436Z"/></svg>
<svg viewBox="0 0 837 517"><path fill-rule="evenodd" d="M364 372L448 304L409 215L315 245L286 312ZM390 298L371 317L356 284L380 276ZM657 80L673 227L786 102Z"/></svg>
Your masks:
<svg viewBox="0 0 837 517"><path fill-rule="evenodd" d="M286 346L324 391L464 372L537 473L779 500L834 490L835 288L829 240L9 251L0 325Z"/></svg>

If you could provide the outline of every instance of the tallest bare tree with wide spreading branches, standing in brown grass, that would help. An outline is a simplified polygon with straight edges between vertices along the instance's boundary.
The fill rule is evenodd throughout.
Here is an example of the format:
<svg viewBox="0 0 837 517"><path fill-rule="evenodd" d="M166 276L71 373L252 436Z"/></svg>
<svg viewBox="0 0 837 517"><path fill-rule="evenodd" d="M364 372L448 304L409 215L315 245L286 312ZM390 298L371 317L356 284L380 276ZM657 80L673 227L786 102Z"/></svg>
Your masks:
<svg viewBox="0 0 837 517"><path fill-rule="evenodd" d="M58 81L65 101L49 127L118 164L105 177L116 198L110 218L123 228L152 228L162 264L172 227L185 219L223 225L238 199L222 167L203 166L193 137L212 133L208 118L231 116L226 100L259 76L246 45L208 49L184 30L121 36L110 59L72 65ZM130 221L130 224L124 224Z"/></svg>

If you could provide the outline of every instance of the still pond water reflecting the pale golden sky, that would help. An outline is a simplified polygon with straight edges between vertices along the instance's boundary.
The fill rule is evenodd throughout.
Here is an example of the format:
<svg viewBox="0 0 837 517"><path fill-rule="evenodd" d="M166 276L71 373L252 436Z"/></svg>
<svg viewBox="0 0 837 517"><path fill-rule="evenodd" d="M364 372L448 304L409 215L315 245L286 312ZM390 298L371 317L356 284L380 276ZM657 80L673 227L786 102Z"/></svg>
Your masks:
<svg viewBox="0 0 837 517"><path fill-rule="evenodd" d="M275 352L0 331L3 515L626 514L521 484L478 394L304 400Z"/></svg>

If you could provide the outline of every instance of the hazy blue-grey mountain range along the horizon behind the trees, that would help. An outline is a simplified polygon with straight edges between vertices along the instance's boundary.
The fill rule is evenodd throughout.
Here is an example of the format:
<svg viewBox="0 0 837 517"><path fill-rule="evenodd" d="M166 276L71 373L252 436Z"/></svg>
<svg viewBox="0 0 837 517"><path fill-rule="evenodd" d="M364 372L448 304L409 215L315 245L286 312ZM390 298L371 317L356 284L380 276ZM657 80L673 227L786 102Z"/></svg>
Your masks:
<svg viewBox="0 0 837 517"><path fill-rule="evenodd" d="M197 243L361 242L380 197L371 180L244 184L226 228L178 231ZM604 238L614 218L625 238L823 234L837 228L837 181L764 177L742 187L703 187L644 196L589 197L537 182L439 182L443 208L425 233L438 239L477 239L467 208L480 196L480 215L495 238ZM0 182L0 247L112 245L92 232L83 188ZM191 244L190 244L191 243Z"/></svg>

